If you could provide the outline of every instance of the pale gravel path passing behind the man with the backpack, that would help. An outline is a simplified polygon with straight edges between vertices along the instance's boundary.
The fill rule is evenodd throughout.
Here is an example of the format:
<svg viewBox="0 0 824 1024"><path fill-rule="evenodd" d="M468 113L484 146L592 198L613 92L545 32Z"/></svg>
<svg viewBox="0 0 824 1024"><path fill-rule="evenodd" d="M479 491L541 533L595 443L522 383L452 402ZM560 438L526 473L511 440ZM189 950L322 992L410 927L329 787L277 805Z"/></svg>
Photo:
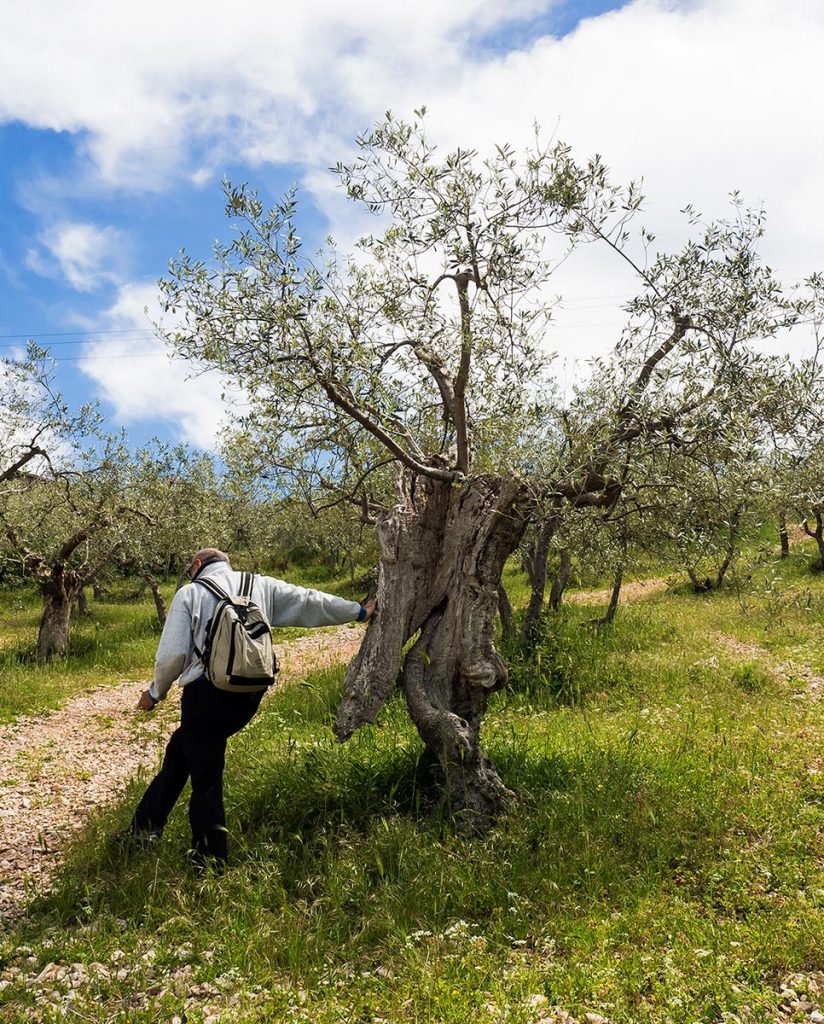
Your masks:
<svg viewBox="0 0 824 1024"><path fill-rule="evenodd" d="M277 648L281 683L351 658L362 631L322 630ZM176 693L135 710L145 680L73 697L58 711L0 727L0 921L42 892L72 838L97 807L117 801L140 768L154 769L178 722Z"/></svg>

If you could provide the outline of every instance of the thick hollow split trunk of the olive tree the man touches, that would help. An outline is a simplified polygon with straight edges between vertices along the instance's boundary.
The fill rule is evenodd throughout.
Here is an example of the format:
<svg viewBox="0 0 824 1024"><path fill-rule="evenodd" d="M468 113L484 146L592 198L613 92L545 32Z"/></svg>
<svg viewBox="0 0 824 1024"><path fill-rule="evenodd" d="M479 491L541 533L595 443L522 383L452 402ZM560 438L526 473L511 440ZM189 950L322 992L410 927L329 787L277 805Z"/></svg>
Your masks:
<svg viewBox="0 0 824 1024"><path fill-rule="evenodd" d="M349 667L335 731L345 740L374 722L400 673L451 810L480 825L511 796L481 749L481 722L507 679L493 645L501 573L533 503L515 476L452 485L405 474L399 489L379 524L378 612Z"/></svg>

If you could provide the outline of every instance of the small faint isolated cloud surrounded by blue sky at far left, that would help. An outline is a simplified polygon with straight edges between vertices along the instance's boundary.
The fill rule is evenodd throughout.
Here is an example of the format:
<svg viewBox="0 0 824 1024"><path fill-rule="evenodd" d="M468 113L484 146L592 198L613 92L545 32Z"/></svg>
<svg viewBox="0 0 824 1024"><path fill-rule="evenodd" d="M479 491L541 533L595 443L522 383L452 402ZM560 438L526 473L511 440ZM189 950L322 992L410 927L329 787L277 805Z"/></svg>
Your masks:
<svg viewBox="0 0 824 1024"><path fill-rule="evenodd" d="M79 292L93 292L120 276L125 242L115 227L60 221L43 231L40 242L42 249L30 249L27 255L35 273L59 274Z"/></svg>

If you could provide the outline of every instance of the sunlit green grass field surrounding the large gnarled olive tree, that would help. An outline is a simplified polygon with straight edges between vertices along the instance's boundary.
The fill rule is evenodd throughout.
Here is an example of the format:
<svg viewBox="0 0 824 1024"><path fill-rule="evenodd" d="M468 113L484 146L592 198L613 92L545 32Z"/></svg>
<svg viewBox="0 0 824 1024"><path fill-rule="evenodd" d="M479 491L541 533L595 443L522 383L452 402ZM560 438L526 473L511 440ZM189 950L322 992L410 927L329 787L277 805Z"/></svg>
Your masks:
<svg viewBox="0 0 824 1024"><path fill-rule="evenodd" d="M46 702L97 665L145 672L154 628L119 613ZM0 1020L814 1021L824 578L794 556L599 634L593 613L568 606L493 699L485 742L518 799L490 833L433 813L399 695L341 746L342 673L314 675L233 741L229 870L188 872L184 807L150 854L113 852L136 780L2 933Z"/></svg>

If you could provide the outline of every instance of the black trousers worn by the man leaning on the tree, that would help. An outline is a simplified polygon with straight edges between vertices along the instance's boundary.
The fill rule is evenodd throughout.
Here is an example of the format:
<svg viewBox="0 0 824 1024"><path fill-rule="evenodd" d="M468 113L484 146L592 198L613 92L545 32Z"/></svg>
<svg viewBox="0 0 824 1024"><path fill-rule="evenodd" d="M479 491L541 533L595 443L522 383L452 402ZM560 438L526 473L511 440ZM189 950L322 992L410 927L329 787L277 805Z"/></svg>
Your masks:
<svg viewBox="0 0 824 1024"><path fill-rule="evenodd" d="M186 779L191 779L188 817L199 857L225 860L226 815L223 766L226 740L254 718L265 691L228 693L203 676L187 683L180 699L180 725L169 737L163 766L137 805L135 831L162 830Z"/></svg>

